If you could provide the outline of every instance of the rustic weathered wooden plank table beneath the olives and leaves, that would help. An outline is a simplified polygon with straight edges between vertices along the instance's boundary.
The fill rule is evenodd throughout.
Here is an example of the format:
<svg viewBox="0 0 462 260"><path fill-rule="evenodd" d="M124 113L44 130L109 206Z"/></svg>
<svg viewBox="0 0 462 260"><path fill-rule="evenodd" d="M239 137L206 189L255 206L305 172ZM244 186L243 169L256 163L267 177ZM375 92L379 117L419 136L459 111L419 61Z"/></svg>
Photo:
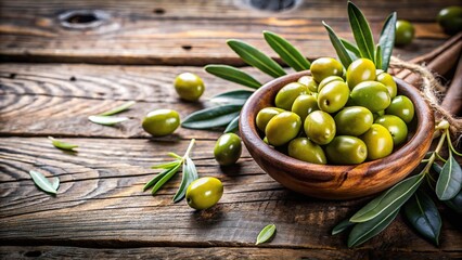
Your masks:
<svg viewBox="0 0 462 260"><path fill-rule="evenodd" d="M243 65L226 40L245 40L275 56L264 42L268 29L290 39L309 58L334 56L321 21L351 39L345 1L304 0L282 12L261 11L252 0L227 1L34 1L0 2L0 258L150 259L447 259L462 257L461 219L441 207L440 246L409 227L402 217L362 246L348 249L346 234L331 236L339 220L368 198L324 202L282 187L244 150L239 162L219 167L213 146L220 131L178 129L150 138L141 118L155 108L182 117L207 98L241 87L207 75L209 63ZM260 1L261 2L261 1ZM416 39L395 55L409 60L448 37L434 22L460 0L384 0L356 3L375 35L392 11L410 20ZM72 13L76 12L76 13ZM255 69L244 68L261 81ZM198 103L178 99L172 80L200 75ZM137 101L115 127L87 117ZM48 135L78 144L78 153L54 148ZM194 211L174 204L180 179L156 196L142 192L150 166L182 153L195 138L201 177L224 184L220 203ZM57 196L39 191L28 171L57 176ZM275 223L269 244L258 232Z"/></svg>

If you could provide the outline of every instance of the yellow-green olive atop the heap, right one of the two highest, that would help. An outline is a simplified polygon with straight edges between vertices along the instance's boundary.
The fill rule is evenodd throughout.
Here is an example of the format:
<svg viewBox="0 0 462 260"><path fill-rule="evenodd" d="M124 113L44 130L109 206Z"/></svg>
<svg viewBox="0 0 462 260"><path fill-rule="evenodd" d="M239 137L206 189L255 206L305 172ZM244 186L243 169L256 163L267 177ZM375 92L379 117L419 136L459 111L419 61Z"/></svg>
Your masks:
<svg viewBox="0 0 462 260"><path fill-rule="evenodd" d="M358 58L347 69L347 83L352 90L358 83L375 80L375 65L371 60Z"/></svg>

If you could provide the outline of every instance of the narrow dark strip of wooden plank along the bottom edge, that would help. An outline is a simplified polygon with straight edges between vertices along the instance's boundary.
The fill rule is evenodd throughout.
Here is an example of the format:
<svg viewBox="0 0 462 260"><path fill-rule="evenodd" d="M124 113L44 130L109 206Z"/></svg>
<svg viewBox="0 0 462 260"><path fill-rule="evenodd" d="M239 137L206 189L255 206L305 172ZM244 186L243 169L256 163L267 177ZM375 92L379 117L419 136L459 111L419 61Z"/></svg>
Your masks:
<svg viewBox="0 0 462 260"><path fill-rule="evenodd" d="M120 249L95 249L81 247L0 247L0 257L4 259L460 259L460 252L408 252L395 250L320 250L320 249L283 249L283 248L180 248L180 247L144 247Z"/></svg>

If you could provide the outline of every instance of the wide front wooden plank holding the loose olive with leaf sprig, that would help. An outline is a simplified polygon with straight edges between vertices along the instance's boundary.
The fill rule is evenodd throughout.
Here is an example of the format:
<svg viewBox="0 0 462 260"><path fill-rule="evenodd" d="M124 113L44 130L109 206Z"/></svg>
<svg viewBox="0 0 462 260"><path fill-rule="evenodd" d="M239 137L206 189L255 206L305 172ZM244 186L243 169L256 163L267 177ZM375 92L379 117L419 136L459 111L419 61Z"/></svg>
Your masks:
<svg viewBox="0 0 462 260"><path fill-rule="evenodd" d="M72 139L79 152L68 154L44 138L1 138L0 243L82 247L253 247L262 226L273 222L271 247L346 249L346 234L331 236L335 223L364 199L321 202L290 192L265 174L245 152L236 166L220 168L214 141L200 140L193 152L200 176L219 178L224 195L216 207L194 211L172 204L175 178L155 197L142 192L154 176L149 167L182 153L188 141ZM27 171L57 176L57 196L40 192ZM435 248L398 218L361 249L461 251L458 216L441 208L441 245ZM102 224L104 223L104 224Z"/></svg>

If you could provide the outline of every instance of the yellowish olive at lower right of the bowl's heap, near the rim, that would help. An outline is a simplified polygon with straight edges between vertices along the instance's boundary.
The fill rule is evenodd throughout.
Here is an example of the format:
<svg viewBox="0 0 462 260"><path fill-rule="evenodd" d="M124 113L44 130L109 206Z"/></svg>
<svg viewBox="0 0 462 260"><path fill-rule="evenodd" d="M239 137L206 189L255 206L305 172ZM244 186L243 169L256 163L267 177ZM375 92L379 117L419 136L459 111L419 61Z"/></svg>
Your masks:
<svg viewBox="0 0 462 260"><path fill-rule="evenodd" d="M393 152L393 138L388 130L378 123L372 123L371 128L360 136L368 147L368 159L383 158Z"/></svg>

